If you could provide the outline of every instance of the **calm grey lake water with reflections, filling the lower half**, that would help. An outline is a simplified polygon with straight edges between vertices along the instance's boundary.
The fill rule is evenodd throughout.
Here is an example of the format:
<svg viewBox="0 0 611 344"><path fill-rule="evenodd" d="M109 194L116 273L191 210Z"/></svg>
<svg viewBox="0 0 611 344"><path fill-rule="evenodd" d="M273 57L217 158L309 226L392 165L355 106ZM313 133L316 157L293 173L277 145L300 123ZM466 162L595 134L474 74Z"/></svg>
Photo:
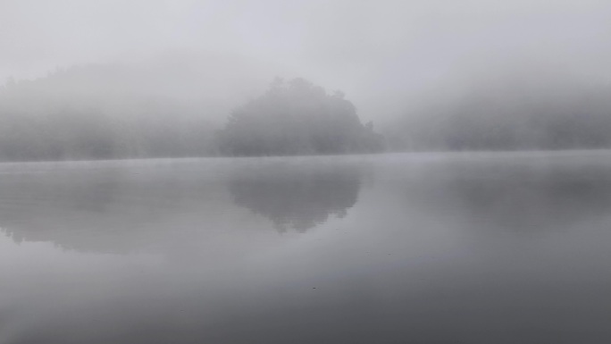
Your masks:
<svg viewBox="0 0 611 344"><path fill-rule="evenodd" d="M607 151L0 164L0 343L608 343Z"/></svg>

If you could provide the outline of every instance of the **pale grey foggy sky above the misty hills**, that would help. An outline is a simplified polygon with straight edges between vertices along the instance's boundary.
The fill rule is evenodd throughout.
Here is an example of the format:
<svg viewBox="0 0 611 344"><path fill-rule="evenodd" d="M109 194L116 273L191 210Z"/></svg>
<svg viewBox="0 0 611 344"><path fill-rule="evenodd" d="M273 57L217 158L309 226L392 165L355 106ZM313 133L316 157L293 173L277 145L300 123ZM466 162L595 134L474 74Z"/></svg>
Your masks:
<svg viewBox="0 0 611 344"><path fill-rule="evenodd" d="M167 49L232 52L343 89L367 118L376 102L486 66L608 75L610 38L608 0L0 0L0 80Z"/></svg>

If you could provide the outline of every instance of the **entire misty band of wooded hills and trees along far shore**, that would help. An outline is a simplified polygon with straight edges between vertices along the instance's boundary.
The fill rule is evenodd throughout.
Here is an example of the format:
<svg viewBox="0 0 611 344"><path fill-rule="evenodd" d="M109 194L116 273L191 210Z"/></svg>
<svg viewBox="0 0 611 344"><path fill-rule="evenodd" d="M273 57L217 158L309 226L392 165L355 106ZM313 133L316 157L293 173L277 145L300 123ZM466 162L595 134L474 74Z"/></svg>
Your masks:
<svg viewBox="0 0 611 344"><path fill-rule="evenodd" d="M163 88L135 89L150 71L115 89L127 71L75 68L0 87L0 161L611 148L608 84L536 76L479 83L423 101L382 136L341 92L307 80L274 80L246 103L207 88L194 103L164 97L173 89L164 80L155 81Z"/></svg>

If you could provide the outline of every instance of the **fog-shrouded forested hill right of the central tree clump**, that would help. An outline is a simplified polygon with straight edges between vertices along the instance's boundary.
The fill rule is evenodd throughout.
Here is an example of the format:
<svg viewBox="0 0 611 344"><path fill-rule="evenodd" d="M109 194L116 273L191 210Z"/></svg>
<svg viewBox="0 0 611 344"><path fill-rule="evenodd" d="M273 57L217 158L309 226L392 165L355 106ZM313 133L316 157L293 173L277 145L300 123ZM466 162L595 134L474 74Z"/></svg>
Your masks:
<svg viewBox="0 0 611 344"><path fill-rule="evenodd" d="M611 85L550 75L439 92L387 130L394 150L611 148Z"/></svg>

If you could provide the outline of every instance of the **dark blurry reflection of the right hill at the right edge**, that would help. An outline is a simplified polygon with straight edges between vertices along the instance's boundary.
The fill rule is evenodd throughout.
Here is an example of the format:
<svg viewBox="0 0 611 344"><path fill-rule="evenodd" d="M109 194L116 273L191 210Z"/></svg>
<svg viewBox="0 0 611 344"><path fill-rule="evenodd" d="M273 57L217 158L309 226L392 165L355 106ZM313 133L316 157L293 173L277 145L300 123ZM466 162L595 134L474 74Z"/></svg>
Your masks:
<svg viewBox="0 0 611 344"><path fill-rule="evenodd" d="M602 170L575 174L506 173L492 180L462 179L448 191L465 202L465 215L503 231L566 231L592 226L611 211L611 175Z"/></svg>

